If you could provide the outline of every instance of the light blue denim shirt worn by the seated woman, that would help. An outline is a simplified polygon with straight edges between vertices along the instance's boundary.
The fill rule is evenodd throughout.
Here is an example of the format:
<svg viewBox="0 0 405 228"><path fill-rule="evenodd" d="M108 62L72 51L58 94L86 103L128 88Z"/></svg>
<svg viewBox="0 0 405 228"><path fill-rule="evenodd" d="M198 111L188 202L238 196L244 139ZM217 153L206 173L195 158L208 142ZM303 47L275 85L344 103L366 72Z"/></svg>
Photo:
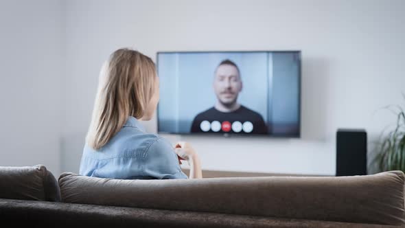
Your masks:
<svg viewBox="0 0 405 228"><path fill-rule="evenodd" d="M80 172L111 179L187 179L169 141L145 133L135 117L99 150L85 145Z"/></svg>

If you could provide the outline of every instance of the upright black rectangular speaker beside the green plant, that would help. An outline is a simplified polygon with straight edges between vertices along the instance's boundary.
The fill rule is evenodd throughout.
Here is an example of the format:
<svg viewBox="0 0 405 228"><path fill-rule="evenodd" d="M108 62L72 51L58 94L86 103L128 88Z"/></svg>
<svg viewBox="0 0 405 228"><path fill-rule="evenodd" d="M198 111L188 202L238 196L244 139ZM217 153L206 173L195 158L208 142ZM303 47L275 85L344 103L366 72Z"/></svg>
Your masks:
<svg viewBox="0 0 405 228"><path fill-rule="evenodd" d="M336 176L367 175L367 133L341 129L336 133Z"/></svg>

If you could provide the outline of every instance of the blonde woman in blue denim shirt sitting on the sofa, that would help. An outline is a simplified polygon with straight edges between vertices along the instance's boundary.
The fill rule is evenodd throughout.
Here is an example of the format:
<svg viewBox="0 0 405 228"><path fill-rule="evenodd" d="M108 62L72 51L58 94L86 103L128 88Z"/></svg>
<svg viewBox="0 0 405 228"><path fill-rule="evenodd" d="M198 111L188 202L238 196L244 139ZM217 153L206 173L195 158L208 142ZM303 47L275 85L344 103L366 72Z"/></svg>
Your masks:
<svg viewBox="0 0 405 228"><path fill-rule="evenodd" d="M148 56L118 49L100 73L93 116L86 136L80 174L113 179L202 178L200 159L187 143L175 148L148 134L140 120L150 120L159 101L159 78Z"/></svg>

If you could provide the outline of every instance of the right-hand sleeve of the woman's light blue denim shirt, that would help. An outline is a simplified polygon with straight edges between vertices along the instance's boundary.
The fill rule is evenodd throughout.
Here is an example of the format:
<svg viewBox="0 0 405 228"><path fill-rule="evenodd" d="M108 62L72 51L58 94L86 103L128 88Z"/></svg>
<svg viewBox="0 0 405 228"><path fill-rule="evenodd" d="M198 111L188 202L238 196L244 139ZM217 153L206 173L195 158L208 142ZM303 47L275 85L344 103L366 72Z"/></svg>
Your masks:
<svg viewBox="0 0 405 228"><path fill-rule="evenodd" d="M159 138L146 151L143 175L155 179L187 179L169 141Z"/></svg>

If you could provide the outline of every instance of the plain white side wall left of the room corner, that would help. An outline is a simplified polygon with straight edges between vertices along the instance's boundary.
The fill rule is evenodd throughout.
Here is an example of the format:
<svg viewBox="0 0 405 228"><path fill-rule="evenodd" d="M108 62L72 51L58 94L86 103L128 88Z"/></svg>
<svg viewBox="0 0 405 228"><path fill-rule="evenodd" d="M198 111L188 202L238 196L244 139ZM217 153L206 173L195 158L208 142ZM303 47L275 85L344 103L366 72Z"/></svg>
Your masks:
<svg viewBox="0 0 405 228"><path fill-rule="evenodd" d="M0 166L60 172L61 1L0 1Z"/></svg>

